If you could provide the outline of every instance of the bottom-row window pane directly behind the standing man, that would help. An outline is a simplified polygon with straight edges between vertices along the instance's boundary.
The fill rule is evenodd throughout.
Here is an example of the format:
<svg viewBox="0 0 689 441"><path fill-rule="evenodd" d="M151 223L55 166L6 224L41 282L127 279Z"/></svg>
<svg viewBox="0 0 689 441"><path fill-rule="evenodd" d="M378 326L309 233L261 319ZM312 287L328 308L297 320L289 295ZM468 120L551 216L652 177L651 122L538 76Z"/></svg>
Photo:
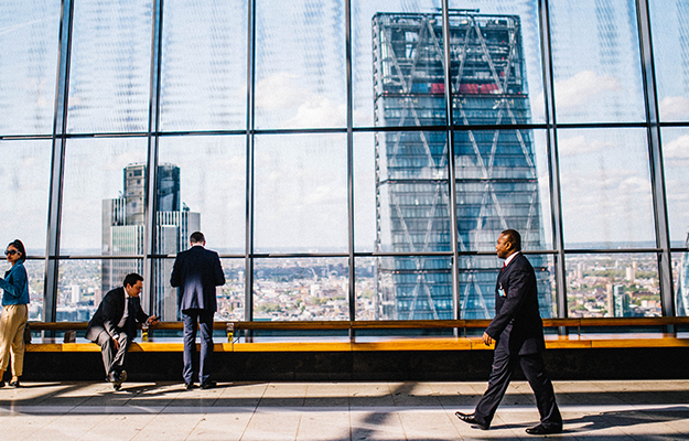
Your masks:
<svg viewBox="0 0 689 441"><path fill-rule="evenodd" d="M207 244L208 249L215 249ZM182 250L189 247L186 246ZM153 271L155 280L153 284L153 304L151 314L162 316L165 322L176 322L181 320L177 304L177 289L170 286L170 276L174 258L153 259ZM223 272L225 273L225 284L216 287L217 311L216 321L240 321L244 315L244 260L243 259L220 259Z"/></svg>

